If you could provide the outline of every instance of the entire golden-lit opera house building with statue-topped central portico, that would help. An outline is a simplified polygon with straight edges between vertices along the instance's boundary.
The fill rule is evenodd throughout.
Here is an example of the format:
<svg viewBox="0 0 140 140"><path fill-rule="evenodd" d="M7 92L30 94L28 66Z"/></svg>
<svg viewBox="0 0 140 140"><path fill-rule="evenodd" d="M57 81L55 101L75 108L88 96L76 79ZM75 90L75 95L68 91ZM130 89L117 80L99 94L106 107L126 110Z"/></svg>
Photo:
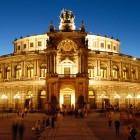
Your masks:
<svg viewBox="0 0 140 140"><path fill-rule="evenodd" d="M120 42L92 35L72 11L62 10L42 35L14 40L0 57L0 106L54 109L128 108L140 104L140 60L120 53Z"/></svg>

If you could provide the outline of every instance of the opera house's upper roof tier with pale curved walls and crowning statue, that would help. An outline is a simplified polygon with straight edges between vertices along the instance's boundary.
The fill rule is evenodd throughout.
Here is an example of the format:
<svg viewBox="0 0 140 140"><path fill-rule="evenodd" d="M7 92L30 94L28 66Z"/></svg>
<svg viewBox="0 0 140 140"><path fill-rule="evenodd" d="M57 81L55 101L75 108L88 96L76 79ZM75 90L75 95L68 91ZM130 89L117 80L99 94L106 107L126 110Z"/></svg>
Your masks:
<svg viewBox="0 0 140 140"><path fill-rule="evenodd" d="M65 36L65 39L70 39L70 36L78 35L78 33L86 33L84 22L82 21L80 30L76 30L72 11L63 9L60 13L59 30L55 30L53 22L50 24L50 33L57 33L58 36ZM77 34L76 34L77 33ZM69 36L70 34L70 36ZM86 33L87 34L87 33ZM84 39L88 45L88 49L92 51L120 53L120 42L113 37L87 34ZM42 35L27 36L25 38L14 40L14 54L44 52L47 49L47 41L50 40L47 33Z"/></svg>

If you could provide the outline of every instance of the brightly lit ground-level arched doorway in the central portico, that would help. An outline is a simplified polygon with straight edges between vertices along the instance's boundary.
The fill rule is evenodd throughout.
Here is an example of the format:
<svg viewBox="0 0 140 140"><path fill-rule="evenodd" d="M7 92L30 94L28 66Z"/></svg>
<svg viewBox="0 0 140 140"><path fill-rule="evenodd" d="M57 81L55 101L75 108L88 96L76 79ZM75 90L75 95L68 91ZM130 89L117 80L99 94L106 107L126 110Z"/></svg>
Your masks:
<svg viewBox="0 0 140 140"><path fill-rule="evenodd" d="M60 108L75 108L75 90L65 87L60 90Z"/></svg>

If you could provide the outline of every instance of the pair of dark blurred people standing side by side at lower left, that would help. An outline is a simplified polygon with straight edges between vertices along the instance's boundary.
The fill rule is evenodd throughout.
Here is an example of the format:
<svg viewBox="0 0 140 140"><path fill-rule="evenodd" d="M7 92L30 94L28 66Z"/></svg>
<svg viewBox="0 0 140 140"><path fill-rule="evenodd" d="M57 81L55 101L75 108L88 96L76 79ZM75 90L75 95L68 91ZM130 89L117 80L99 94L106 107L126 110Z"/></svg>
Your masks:
<svg viewBox="0 0 140 140"><path fill-rule="evenodd" d="M25 131L24 121L14 120L12 123L13 140L17 139L18 134L19 134L20 140L23 140L24 131Z"/></svg>

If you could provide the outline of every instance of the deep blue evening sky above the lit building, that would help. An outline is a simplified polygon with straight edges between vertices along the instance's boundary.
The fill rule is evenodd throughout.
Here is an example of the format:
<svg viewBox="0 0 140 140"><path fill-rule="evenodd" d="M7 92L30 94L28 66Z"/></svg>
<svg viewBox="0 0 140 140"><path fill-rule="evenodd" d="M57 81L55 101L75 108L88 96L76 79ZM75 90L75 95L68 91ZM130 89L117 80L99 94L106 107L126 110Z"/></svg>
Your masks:
<svg viewBox="0 0 140 140"><path fill-rule="evenodd" d="M112 36L121 42L120 52L140 58L140 0L0 0L0 55L12 53L20 36L58 29L62 9L71 10L79 29Z"/></svg>

